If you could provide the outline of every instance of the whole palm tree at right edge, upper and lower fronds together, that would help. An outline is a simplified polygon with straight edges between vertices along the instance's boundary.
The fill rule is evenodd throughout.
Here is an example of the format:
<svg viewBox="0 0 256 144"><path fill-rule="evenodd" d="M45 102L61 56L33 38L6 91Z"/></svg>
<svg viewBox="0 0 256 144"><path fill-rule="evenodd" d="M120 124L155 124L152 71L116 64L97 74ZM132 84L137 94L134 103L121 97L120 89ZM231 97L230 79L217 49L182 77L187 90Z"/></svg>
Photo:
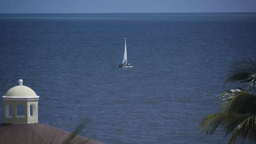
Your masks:
<svg viewBox="0 0 256 144"><path fill-rule="evenodd" d="M229 143L255 143L256 96L250 92L256 89L256 65L251 59L236 61L230 74L225 83L247 83L249 92L237 87L221 93L220 112L205 116L200 124L200 130L211 135L219 128L225 136L231 135Z"/></svg>

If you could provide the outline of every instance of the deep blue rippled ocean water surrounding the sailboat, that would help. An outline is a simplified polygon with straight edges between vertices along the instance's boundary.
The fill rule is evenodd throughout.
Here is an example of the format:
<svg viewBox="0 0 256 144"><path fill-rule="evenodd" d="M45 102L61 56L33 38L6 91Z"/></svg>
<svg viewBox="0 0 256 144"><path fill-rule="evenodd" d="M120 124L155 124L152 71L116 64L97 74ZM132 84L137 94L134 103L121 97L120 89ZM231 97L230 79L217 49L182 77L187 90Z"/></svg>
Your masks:
<svg viewBox="0 0 256 144"><path fill-rule="evenodd" d="M255 56L255 13L0 14L1 95L23 79L40 123L104 143L226 143L199 125Z"/></svg>

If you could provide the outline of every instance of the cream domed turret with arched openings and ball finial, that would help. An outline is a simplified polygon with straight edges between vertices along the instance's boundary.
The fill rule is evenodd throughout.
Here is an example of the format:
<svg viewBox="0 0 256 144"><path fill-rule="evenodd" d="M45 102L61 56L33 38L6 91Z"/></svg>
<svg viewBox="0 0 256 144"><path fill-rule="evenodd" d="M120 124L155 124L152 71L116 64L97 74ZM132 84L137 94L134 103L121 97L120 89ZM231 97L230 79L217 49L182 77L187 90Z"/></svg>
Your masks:
<svg viewBox="0 0 256 144"><path fill-rule="evenodd" d="M3 96L4 123L38 123L39 96L22 82Z"/></svg>

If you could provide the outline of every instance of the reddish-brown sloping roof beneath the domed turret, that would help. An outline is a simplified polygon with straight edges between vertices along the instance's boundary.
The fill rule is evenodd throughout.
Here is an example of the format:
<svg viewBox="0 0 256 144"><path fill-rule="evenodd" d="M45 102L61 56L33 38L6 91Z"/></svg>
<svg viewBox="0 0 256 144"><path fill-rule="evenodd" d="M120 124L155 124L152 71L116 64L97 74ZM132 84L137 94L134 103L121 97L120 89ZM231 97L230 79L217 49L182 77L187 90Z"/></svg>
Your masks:
<svg viewBox="0 0 256 144"><path fill-rule="evenodd" d="M62 143L71 133L42 123L0 124L0 143ZM70 143L103 144L76 135Z"/></svg>

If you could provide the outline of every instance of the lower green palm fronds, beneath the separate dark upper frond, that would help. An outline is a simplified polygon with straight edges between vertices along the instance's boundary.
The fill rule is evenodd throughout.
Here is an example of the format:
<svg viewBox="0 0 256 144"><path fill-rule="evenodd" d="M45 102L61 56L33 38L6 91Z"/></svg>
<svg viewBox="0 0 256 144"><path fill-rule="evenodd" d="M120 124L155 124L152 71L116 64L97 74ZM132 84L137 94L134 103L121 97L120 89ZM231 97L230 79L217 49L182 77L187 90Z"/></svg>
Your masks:
<svg viewBox="0 0 256 144"><path fill-rule="evenodd" d="M211 135L217 128L220 128L225 136L231 134L229 140L231 143L237 140L254 140L253 136L254 138L256 136L256 96L242 88L235 88L220 94L220 99L222 100L221 112L207 115L202 119L200 125L202 133Z"/></svg>

